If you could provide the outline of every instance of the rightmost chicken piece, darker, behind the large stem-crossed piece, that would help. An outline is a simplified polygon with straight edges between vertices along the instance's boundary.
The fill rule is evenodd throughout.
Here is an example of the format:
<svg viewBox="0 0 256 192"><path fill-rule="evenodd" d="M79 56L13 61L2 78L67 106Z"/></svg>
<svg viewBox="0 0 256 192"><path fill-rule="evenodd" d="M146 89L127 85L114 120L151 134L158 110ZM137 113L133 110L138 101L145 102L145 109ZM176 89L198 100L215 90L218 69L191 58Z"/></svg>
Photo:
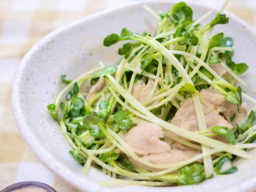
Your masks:
<svg viewBox="0 0 256 192"><path fill-rule="evenodd" d="M225 95L221 94L217 90L203 89L200 94L207 103L211 103L213 107L222 115L228 122L230 118L235 115L234 121L230 122L232 125L236 125L239 121L244 119L247 115L246 104L242 103L240 113L237 110L237 105L230 103Z"/></svg>

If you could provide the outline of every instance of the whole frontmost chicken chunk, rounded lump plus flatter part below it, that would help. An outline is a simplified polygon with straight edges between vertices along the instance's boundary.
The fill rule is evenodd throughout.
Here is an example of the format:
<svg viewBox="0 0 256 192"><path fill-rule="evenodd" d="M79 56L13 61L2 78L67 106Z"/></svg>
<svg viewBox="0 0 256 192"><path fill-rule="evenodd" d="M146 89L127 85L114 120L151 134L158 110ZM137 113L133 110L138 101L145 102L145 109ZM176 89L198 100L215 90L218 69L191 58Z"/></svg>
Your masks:
<svg viewBox="0 0 256 192"><path fill-rule="evenodd" d="M142 159L154 164L173 164L184 161L201 153L201 151L187 146L170 146L167 142L161 141L163 131L156 124L140 124L129 130L124 140ZM158 171L141 162L129 160L137 167L148 171Z"/></svg>

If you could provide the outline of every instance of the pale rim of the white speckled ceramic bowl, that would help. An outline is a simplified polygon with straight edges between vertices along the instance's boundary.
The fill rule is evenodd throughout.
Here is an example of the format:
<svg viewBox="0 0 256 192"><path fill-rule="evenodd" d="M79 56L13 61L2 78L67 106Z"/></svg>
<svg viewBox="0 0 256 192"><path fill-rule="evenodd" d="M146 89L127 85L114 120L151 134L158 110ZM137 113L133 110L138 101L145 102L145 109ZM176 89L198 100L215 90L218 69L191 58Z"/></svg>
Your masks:
<svg viewBox="0 0 256 192"><path fill-rule="evenodd" d="M20 88L19 84L22 80L22 73L23 70L27 67L27 62L30 60L30 58L33 56L33 54L40 49L42 45L44 45L47 42L50 42L51 39L53 39L55 36L58 36L59 33L62 31L66 31L69 29L72 29L73 27L77 25L82 25L84 22L92 20L94 18L102 17L102 15L109 14L111 12L120 11L124 9L129 9L134 6L142 6L143 4L173 4L180 1L174 0L174 1L168 1L168 0L149 0L149 1L141 1L141 2L135 2L131 3L125 6L117 7L115 9L107 9L104 11L96 12L92 15L89 15L83 19L79 19L75 22L69 23L66 26L63 26L57 30L52 31L50 34L44 36L41 40L39 40L35 45L31 47L31 49L25 54L25 56L22 58L17 71L15 73L15 76L13 78L12 83L12 89L11 89L11 103L12 103L12 110L14 115L14 120L18 126L18 129L20 131L20 134L22 135L23 139L29 146L29 148L33 151L34 154L39 158L39 160L46 165L55 175L57 174L58 177L62 178L66 182L68 182L70 185L74 186L76 189L83 190L83 191L110 191L108 188L101 188L100 186L95 186L93 183L88 181L86 178L80 178L76 176L76 174L69 170L65 165L59 164L57 159L55 159L53 156L51 156L45 148L43 148L40 143L37 141L36 137L29 131L30 126L27 125L25 118L23 117L22 110L20 108ZM217 9L214 9L210 6L204 5L202 3L195 3L188 1L186 2L188 5L198 6L201 8L211 9L214 12L217 12ZM246 29L249 29L250 32L256 37L256 30L250 26L248 23L243 21L241 18L238 18L236 15L231 14L227 11L224 11L223 13L227 14L228 17L232 17L236 22L244 26ZM51 162L51 163L48 163ZM58 167L58 169L55 169L55 167ZM66 173L66 174L63 174ZM75 180L70 180L70 177L76 178ZM83 181L83 183L86 183L86 187L81 187L79 183L80 181ZM253 185L253 183L256 182L256 178L251 178L250 180L243 181L239 184L239 186L243 185L244 191L251 191L256 189L256 184ZM175 187L174 187L175 188ZM95 189L95 190L94 190ZM234 185L233 187L229 188L227 191L237 191L238 185Z"/></svg>

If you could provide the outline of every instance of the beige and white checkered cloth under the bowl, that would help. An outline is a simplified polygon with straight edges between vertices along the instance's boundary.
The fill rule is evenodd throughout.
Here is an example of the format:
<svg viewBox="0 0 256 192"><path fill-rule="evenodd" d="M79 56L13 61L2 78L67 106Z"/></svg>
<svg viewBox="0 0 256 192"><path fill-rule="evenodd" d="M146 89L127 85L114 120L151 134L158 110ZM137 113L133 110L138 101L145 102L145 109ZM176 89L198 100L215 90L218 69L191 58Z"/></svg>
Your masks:
<svg viewBox="0 0 256 192"><path fill-rule="evenodd" d="M78 191L48 170L30 151L11 109L12 78L23 55L54 29L86 15L140 0L0 0L0 190L40 181L57 191ZM185 0L184 0L185 1ZM190 0L218 8L222 0ZM256 27L256 1L231 0L227 11Z"/></svg>

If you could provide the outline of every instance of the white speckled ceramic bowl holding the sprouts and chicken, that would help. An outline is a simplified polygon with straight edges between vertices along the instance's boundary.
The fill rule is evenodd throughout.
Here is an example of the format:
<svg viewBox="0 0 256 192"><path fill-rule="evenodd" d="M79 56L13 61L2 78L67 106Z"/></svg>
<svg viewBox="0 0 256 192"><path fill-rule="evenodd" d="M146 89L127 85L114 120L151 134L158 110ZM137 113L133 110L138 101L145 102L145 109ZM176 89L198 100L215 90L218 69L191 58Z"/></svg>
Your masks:
<svg viewBox="0 0 256 192"><path fill-rule="evenodd" d="M26 54L19 65L12 87L12 106L15 121L23 138L30 148L54 173L83 191L255 191L256 161L239 160L239 171L235 174L221 175L198 185L184 187L143 187L118 186L100 187L98 181L110 180L100 171L91 168L89 174L82 172L68 151L71 147L62 136L58 124L46 110L54 102L58 93L65 87L60 81L61 74L71 79L98 66L98 61L110 64L118 60L117 48L121 44L103 47L103 38L110 33L119 34L126 27L131 31L154 34L157 21L142 8L143 3L121 9L92 15L65 28L47 35ZM154 10L165 12L173 3L144 3ZM209 7L189 3L194 10L194 18L210 11ZM244 90L255 95L256 34L250 26L230 16L228 25L218 26L215 32L223 31L234 38L237 62L244 61L250 69L242 78L249 84ZM209 21L209 20L207 20ZM251 151L254 153L254 150Z"/></svg>

